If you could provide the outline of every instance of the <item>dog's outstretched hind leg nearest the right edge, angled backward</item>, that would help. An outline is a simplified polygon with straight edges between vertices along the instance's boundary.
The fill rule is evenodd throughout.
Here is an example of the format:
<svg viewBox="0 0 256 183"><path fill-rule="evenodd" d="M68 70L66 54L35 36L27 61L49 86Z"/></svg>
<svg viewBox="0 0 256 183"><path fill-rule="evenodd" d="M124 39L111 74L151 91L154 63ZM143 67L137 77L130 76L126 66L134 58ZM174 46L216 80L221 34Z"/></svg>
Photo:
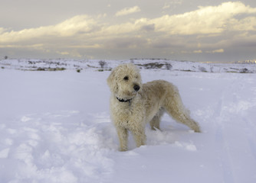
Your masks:
<svg viewBox="0 0 256 183"><path fill-rule="evenodd" d="M187 125L195 132L201 132L199 124L190 117L189 110L182 104L178 89L174 85L172 85L172 89L166 94L166 100L163 105L167 113L177 122Z"/></svg>

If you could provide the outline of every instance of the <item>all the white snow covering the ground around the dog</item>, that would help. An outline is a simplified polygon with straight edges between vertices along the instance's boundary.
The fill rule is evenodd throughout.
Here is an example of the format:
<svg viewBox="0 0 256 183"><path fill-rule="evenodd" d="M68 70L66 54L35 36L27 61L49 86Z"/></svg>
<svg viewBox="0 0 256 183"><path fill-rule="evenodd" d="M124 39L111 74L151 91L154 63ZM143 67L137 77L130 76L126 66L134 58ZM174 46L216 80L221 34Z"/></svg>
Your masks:
<svg viewBox="0 0 256 183"><path fill-rule="evenodd" d="M212 72L202 63L141 66L143 82L165 79L179 88L203 132L165 115L162 131L146 127L146 146L136 148L130 136L129 151L119 152L110 71L98 72L91 60L94 67L83 63L79 73L72 60L64 71L28 71L27 61L0 61L1 182L256 182L255 65L218 64ZM107 61L107 69L119 63Z"/></svg>

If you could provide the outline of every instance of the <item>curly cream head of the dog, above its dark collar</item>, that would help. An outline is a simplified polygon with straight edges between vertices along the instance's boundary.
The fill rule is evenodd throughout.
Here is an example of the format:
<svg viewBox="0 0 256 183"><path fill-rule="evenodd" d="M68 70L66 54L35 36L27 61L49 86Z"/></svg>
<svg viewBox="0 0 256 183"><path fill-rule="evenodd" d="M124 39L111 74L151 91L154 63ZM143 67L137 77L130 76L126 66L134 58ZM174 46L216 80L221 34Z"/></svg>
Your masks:
<svg viewBox="0 0 256 183"><path fill-rule="evenodd" d="M132 63L117 66L107 78L107 84L117 98L129 100L142 87L139 69Z"/></svg>

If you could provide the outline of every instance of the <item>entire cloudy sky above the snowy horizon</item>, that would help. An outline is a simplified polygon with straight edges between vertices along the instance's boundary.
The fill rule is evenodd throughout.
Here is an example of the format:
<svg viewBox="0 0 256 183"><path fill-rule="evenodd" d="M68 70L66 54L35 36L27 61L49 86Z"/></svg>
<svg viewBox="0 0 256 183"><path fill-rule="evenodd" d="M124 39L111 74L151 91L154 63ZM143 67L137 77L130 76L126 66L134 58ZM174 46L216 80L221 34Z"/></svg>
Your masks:
<svg viewBox="0 0 256 183"><path fill-rule="evenodd" d="M256 59L256 1L1 0L4 56Z"/></svg>

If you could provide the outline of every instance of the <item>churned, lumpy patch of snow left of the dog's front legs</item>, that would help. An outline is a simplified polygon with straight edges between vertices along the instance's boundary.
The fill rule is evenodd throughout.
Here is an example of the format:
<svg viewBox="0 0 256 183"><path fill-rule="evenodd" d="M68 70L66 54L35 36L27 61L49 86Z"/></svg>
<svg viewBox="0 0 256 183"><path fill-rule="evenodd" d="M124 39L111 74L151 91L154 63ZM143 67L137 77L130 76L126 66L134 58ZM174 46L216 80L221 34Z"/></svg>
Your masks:
<svg viewBox="0 0 256 183"><path fill-rule="evenodd" d="M2 182L97 182L112 173L107 154L117 149L113 127L73 121L77 116L79 111L28 114L2 127Z"/></svg>

